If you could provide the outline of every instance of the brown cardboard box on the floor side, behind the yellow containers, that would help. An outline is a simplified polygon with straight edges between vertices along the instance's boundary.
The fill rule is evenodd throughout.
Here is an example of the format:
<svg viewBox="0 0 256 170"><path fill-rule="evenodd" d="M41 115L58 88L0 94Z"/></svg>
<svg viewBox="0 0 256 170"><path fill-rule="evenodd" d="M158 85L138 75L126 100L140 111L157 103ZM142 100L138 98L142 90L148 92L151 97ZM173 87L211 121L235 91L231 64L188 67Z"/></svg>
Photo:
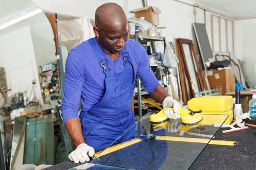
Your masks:
<svg viewBox="0 0 256 170"><path fill-rule="evenodd" d="M223 70L208 70L207 78L211 89L217 86L222 87L222 95L226 92L234 91L234 70L223 69Z"/></svg>

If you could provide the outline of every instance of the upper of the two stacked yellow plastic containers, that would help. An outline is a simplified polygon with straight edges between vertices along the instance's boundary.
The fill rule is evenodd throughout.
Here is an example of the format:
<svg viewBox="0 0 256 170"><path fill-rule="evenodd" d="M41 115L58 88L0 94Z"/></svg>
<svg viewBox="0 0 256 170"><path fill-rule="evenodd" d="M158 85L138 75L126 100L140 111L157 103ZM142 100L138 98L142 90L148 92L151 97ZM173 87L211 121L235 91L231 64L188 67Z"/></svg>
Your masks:
<svg viewBox="0 0 256 170"><path fill-rule="evenodd" d="M225 112L232 110L233 101L231 95L211 95L190 99L187 108L191 111Z"/></svg>

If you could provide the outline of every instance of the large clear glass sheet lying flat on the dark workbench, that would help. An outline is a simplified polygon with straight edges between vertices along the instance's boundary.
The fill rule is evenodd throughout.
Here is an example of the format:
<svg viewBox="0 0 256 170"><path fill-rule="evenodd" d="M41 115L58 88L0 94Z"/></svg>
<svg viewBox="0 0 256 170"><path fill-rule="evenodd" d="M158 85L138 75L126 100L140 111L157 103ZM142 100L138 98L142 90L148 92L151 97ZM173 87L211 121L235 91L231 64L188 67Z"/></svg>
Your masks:
<svg viewBox="0 0 256 170"><path fill-rule="evenodd" d="M148 120L151 114L144 115L124 133L133 133L133 139L119 144L113 142L96 153L90 163L132 169L188 169L219 129L213 124L188 126L173 120L151 124ZM221 117L222 123L228 117L214 116Z"/></svg>

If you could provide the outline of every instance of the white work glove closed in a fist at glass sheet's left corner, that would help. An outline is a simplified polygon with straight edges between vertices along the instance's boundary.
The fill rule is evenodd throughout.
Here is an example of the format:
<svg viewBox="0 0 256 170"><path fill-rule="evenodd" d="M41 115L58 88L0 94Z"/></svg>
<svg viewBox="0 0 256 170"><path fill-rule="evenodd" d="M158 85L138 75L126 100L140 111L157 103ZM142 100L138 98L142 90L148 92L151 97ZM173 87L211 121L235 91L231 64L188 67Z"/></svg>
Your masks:
<svg viewBox="0 0 256 170"><path fill-rule="evenodd" d="M69 154L69 159L75 163L89 162L90 157L93 157L94 149L86 143L79 144L74 151Z"/></svg>

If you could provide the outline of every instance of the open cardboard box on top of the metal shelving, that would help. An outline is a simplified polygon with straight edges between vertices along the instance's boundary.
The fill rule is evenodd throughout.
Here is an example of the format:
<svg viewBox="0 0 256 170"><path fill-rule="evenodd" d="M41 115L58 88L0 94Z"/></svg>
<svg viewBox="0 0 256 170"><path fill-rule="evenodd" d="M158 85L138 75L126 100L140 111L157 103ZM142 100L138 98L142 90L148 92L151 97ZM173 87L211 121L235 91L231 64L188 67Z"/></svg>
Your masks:
<svg viewBox="0 0 256 170"><path fill-rule="evenodd" d="M137 18L144 17L146 21L152 23L153 25L155 26L159 25L158 14L161 13L161 11L157 7L148 6L148 7L138 8L130 12L134 13L135 17Z"/></svg>

